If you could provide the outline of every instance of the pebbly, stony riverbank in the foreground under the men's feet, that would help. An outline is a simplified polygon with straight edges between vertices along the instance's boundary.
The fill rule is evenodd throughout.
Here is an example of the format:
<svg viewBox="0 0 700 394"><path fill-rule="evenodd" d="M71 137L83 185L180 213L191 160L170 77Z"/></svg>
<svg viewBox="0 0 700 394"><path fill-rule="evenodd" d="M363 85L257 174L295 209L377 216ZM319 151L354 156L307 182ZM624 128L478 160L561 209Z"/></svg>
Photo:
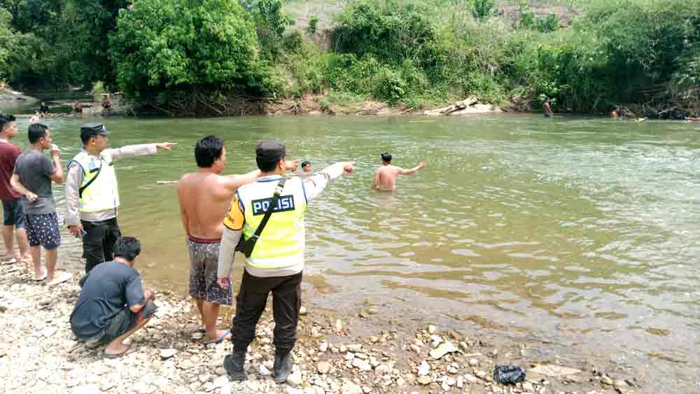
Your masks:
<svg viewBox="0 0 700 394"><path fill-rule="evenodd" d="M535 363L528 355L538 349L529 343L495 344L487 332L464 335L430 322L389 320L371 308L328 311L308 302L288 384L274 384L269 377L274 357L269 308L248 351L248 381L230 382L222 368L230 342L203 346L193 303L169 292L158 293L155 318L130 339L139 350L111 360L104 358L104 347L86 349L70 331L78 270L71 281L52 289L31 281L20 264L0 265L0 273L5 332L0 393L643 392L633 387L636 381L611 377L592 364ZM497 364L526 367L526 380L497 384Z"/></svg>

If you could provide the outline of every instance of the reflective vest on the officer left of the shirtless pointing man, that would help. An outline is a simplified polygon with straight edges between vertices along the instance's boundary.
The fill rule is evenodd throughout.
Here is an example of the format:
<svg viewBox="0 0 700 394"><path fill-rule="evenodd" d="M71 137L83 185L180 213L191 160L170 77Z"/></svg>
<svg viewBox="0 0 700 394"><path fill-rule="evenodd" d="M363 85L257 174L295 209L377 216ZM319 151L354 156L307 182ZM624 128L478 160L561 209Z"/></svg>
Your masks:
<svg viewBox="0 0 700 394"><path fill-rule="evenodd" d="M80 184L79 189L83 189L94 178L94 181L83 189L80 196L80 212L116 209L119 206L117 174L109 151L93 156L83 150L73 157L68 167L73 163L78 164L83 171L83 183Z"/></svg>

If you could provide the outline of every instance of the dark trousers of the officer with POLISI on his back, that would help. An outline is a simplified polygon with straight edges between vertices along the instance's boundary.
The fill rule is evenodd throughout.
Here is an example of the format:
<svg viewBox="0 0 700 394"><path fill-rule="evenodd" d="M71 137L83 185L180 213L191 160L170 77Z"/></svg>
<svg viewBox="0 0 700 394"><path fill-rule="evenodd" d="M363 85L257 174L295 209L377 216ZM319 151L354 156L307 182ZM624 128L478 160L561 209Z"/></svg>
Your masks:
<svg viewBox="0 0 700 394"><path fill-rule="evenodd" d="M233 318L235 351L246 351L255 338L255 325L265 311L267 295L272 291L274 316L274 347L276 353L286 355L297 342L297 323L302 304L302 272L290 276L260 278L245 270L241 288L236 297L236 316Z"/></svg>

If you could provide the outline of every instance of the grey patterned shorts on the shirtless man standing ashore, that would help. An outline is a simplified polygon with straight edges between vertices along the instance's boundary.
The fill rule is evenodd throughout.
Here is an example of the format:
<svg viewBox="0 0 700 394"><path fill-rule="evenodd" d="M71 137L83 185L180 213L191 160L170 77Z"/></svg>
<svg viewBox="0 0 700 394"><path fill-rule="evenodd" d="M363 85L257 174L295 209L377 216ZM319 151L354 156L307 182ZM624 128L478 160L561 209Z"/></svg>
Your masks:
<svg viewBox="0 0 700 394"><path fill-rule="evenodd" d="M216 283L219 246L221 241L218 240L187 239L190 250L190 295L195 300L232 305L233 286L224 289Z"/></svg>

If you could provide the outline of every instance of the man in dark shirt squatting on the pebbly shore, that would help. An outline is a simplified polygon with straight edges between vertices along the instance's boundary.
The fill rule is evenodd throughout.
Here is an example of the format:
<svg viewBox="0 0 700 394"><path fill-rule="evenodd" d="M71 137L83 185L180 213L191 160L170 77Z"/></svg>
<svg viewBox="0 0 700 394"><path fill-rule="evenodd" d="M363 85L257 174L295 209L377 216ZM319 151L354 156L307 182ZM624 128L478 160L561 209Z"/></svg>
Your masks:
<svg viewBox="0 0 700 394"><path fill-rule="evenodd" d="M108 344L104 355L116 358L136 348L125 345L127 337L153 317L155 295L144 291L134 260L141 243L134 237L120 237L114 245L114 261L103 262L80 279L83 290L71 314L71 330L85 346Z"/></svg>

